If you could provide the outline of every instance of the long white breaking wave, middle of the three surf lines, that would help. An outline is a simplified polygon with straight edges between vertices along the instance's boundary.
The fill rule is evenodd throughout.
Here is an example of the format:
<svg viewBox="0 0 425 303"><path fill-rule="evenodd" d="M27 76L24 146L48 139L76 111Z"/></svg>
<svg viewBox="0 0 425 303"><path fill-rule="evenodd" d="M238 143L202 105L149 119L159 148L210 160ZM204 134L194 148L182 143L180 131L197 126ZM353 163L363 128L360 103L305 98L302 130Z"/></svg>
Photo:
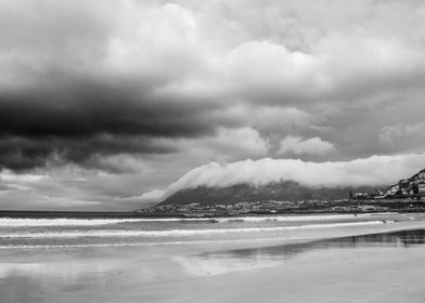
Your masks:
<svg viewBox="0 0 425 303"><path fill-rule="evenodd" d="M234 233L260 233L260 232L283 232L306 228L334 228L346 226L363 226L376 224L391 224L394 222L366 221L351 223L330 223L330 224L308 224L300 226L279 226L279 227L246 227L246 228L215 228L215 229L168 229L168 230L73 230L73 232L46 232L46 233L9 233L0 234L0 238L79 238L79 237L173 237L173 236L196 236L217 235Z"/></svg>

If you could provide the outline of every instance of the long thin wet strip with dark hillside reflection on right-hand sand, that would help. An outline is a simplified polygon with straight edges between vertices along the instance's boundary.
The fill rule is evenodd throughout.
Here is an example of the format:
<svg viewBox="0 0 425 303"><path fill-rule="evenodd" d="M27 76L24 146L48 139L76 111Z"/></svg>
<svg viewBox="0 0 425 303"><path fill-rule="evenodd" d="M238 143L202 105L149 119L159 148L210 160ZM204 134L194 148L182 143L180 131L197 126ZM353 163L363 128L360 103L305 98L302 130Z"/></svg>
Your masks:
<svg viewBox="0 0 425 303"><path fill-rule="evenodd" d="M415 229L331 238L302 243L205 252L197 256L201 260L239 259L252 262L259 260L283 260L293 258L299 253L318 249L357 248L366 246L410 247L424 243L425 229Z"/></svg>

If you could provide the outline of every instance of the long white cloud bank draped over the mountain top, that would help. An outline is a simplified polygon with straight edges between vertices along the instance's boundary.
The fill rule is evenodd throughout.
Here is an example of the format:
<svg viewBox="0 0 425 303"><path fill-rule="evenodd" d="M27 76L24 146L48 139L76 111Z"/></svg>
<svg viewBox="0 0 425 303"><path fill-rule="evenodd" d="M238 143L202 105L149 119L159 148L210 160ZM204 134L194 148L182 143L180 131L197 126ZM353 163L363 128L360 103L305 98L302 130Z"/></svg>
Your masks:
<svg viewBox="0 0 425 303"><path fill-rule="evenodd" d="M425 154L372 156L335 162L308 162L300 159L244 160L228 164L210 162L189 171L155 198L163 199L184 188L226 187L235 184L265 185L294 181L319 187L387 186L409 177L425 167ZM145 194L144 197L147 197Z"/></svg>

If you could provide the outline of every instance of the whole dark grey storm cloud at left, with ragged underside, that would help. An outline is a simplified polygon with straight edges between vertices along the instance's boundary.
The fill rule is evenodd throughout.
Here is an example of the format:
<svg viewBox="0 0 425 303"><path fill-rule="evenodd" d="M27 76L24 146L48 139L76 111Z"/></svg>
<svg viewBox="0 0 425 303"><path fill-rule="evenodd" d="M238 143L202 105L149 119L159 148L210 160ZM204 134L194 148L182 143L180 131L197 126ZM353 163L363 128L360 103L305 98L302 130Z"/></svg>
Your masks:
<svg viewBox="0 0 425 303"><path fill-rule="evenodd" d="M155 139L209 133L197 118L204 109L94 83L0 94L0 166L28 169L52 156L89 164L93 155L172 153L176 147Z"/></svg>

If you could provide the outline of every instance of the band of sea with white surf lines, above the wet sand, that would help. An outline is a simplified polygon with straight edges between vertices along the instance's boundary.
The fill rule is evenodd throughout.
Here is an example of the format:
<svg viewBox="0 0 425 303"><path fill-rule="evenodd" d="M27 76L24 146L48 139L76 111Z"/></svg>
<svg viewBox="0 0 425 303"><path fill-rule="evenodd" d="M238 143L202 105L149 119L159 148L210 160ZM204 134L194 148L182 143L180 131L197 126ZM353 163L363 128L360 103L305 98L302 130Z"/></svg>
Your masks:
<svg viewBox="0 0 425 303"><path fill-rule="evenodd" d="M366 234L423 215L324 214L158 219L0 218L0 249L90 246L153 246L193 242L305 239Z"/></svg>

